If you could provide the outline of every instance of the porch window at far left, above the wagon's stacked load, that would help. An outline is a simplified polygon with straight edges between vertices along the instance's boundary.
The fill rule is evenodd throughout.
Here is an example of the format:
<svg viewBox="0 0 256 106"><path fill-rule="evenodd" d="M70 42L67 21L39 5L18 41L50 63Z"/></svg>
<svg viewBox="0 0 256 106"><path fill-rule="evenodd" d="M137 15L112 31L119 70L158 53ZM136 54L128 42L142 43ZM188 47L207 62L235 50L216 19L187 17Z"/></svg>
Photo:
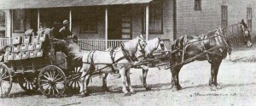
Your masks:
<svg viewBox="0 0 256 106"><path fill-rule="evenodd" d="M13 28L14 32L25 32L26 29L26 11L25 9L13 10Z"/></svg>

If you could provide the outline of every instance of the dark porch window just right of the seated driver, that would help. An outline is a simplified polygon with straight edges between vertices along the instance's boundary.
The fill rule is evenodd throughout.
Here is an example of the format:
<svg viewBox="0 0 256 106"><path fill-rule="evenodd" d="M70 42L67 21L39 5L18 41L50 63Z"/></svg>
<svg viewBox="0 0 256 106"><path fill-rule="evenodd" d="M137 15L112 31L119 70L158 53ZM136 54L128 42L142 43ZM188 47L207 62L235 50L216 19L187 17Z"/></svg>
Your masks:
<svg viewBox="0 0 256 106"><path fill-rule="evenodd" d="M97 33L97 14L96 9L88 8L82 11L81 33Z"/></svg>

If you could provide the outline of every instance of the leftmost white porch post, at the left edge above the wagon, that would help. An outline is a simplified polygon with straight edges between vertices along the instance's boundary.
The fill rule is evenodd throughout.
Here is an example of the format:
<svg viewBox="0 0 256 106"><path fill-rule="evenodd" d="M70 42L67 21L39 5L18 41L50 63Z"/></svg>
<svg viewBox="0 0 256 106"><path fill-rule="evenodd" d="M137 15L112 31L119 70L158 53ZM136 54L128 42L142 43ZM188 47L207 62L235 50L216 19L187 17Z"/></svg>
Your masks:
<svg viewBox="0 0 256 106"><path fill-rule="evenodd" d="M13 11L11 9L6 10L6 37L9 37L9 43L11 43L12 31L13 31Z"/></svg>

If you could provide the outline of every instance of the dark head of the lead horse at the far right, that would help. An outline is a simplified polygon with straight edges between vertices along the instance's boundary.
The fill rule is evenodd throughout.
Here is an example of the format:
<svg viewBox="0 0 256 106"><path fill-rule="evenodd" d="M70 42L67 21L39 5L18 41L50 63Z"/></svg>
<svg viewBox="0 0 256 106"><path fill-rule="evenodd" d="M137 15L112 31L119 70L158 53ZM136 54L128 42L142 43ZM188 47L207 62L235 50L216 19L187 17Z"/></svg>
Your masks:
<svg viewBox="0 0 256 106"><path fill-rule="evenodd" d="M243 38L243 42L247 45L247 47L252 47L252 38L250 35L250 31L248 30L247 24L244 22L244 20L241 20L239 23L241 27L241 36Z"/></svg>

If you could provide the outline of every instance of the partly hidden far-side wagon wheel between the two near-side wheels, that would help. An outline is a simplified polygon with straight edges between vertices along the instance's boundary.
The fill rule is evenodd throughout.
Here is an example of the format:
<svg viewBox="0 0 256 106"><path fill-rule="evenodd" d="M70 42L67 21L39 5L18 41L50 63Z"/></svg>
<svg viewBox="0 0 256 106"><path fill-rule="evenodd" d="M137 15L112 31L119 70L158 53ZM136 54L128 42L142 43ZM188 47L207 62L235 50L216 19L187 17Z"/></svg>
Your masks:
<svg viewBox="0 0 256 106"><path fill-rule="evenodd" d="M20 87L26 92L36 92L38 90L38 73L26 73L17 78Z"/></svg>

